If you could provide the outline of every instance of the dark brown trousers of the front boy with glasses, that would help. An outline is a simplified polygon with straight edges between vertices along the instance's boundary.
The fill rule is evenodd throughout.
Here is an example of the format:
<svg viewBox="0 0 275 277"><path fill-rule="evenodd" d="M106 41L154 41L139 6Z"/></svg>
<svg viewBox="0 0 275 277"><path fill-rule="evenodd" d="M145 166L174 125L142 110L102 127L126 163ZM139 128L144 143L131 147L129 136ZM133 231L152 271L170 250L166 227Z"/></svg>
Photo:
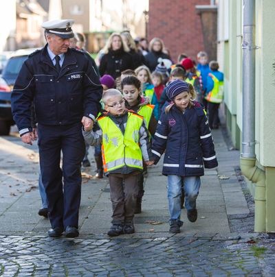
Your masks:
<svg viewBox="0 0 275 277"><path fill-rule="evenodd" d="M132 222L139 191L138 175L140 171L129 174L110 173L109 184L113 206L112 224Z"/></svg>

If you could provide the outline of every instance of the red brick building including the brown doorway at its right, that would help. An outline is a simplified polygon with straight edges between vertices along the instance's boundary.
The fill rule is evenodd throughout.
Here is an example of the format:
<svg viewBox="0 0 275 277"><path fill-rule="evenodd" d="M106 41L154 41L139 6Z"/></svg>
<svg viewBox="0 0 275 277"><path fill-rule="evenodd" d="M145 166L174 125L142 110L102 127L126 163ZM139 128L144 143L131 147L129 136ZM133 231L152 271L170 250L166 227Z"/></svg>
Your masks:
<svg viewBox="0 0 275 277"><path fill-rule="evenodd" d="M217 6L210 0L150 0L148 39L162 38L173 60L179 53L195 59L207 51L217 58ZM210 5L211 4L211 5Z"/></svg>

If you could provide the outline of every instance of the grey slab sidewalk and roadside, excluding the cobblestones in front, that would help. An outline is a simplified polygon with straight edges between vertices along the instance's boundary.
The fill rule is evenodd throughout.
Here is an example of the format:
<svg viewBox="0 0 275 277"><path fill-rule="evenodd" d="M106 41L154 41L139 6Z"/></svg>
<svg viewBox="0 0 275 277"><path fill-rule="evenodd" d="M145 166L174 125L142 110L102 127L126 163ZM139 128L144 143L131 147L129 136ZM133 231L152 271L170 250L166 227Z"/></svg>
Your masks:
<svg viewBox="0 0 275 277"><path fill-rule="evenodd" d="M184 226L180 235L230 234L228 217L248 215L250 210L243 195L235 168L239 166L239 152L228 151L221 130L213 130L219 168L206 169L201 178L197 199L198 219L190 223L183 209ZM39 156L37 145L23 145L17 136L0 137L0 234L45 235L50 228L47 219L37 214L41 207L38 176ZM94 160L94 149L89 149ZM94 164L83 169L89 177ZM169 236L166 176L162 176L162 162L148 169L145 181L142 213L135 216L136 232L131 237ZM83 178L80 206L80 237L94 234L106 236L111 221L111 202L107 178ZM236 232L237 230L234 230ZM107 236L106 236L107 237ZM127 237L127 236L124 236ZM129 236L128 236L129 237Z"/></svg>

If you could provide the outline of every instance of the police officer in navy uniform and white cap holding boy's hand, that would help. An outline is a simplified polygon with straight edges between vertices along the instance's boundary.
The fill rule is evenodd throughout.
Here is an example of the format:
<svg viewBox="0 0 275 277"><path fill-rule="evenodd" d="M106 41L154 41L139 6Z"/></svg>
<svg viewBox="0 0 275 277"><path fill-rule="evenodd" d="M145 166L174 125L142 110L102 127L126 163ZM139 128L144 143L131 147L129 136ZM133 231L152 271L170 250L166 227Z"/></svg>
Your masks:
<svg viewBox="0 0 275 277"><path fill-rule="evenodd" d="M85 155L81 129L93 127L102 96L94 60L83 51L69 49L73 23L71 19L43 23L47 44L24 62L12 91L12 115L21 140L30 145L35 139L34 103L50 237L61 237L64 231L66 237L78 237L80 167Z"/></svg>

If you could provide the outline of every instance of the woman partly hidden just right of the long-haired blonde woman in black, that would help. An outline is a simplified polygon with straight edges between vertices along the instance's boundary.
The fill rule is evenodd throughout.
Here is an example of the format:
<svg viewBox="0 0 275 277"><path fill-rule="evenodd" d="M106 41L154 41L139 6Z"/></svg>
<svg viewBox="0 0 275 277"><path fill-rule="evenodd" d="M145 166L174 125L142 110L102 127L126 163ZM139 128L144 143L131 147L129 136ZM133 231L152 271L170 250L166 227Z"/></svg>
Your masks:
<svg viewBox="0 0 275 277"><path fill-rule="evenodd" d="M144 65L145 60L144 56L142 55L142 51L140 51L140 49L137 49L137 46L135 45L135 40L133 40L130 32L124 31L120 35L122 36L122 40L124 40L124 43L126 43L126 45L130 49L129 54L132 56L133 59L133 68L136 69L137 67Z"/></svg>

